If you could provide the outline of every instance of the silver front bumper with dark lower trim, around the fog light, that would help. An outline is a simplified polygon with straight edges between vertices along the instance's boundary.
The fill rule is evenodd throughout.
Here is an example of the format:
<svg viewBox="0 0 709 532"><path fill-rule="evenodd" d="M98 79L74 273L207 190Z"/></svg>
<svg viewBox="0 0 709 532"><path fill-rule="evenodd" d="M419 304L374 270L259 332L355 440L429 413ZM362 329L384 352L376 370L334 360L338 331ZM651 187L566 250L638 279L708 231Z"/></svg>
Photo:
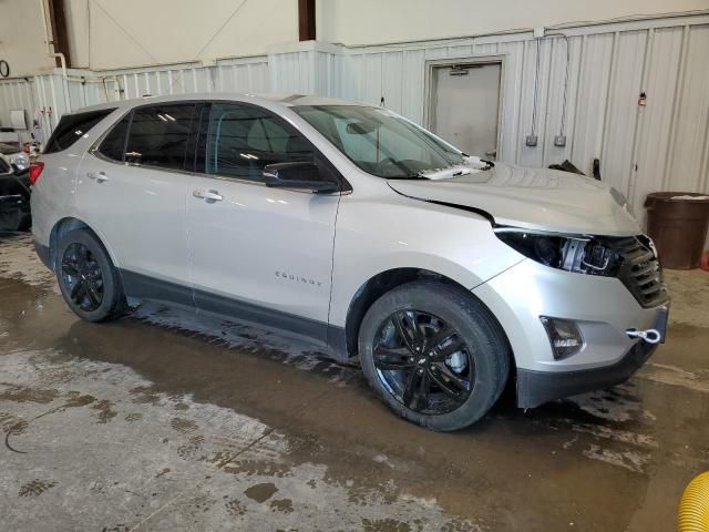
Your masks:
<svg viewBox="0 0 709 532"><path fill-rule="evenodd" d="M504 329L517 371L522 407L621 382L651 346L628 329L664 329L667 305L644 308L623 283L523 260L473 289ZM575 321L584 338L576 355L556 360L540 316ZM638 355L639 352L639 355Z"/></svg>

